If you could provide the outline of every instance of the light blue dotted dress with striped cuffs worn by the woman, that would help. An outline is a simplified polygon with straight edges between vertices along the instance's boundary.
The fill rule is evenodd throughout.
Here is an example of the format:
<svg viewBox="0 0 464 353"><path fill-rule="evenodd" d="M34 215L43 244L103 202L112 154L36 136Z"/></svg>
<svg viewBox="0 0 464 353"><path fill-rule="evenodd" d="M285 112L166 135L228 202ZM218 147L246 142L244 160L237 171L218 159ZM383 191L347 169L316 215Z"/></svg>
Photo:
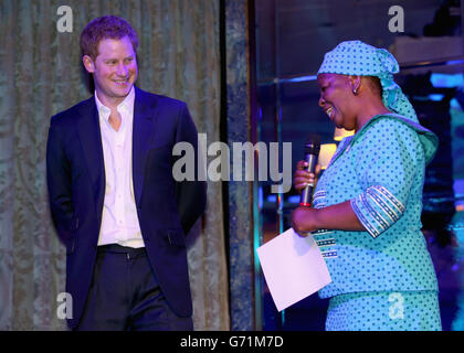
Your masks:
<svg viewBox="0 0 464 353"><path fill-rule="evenodd" d="M367 232L315 232L333 282L326 330L441 330L437 280L421 233L433 132L405 117L371 118L320 176L316 208L350 200Z"/></svg>

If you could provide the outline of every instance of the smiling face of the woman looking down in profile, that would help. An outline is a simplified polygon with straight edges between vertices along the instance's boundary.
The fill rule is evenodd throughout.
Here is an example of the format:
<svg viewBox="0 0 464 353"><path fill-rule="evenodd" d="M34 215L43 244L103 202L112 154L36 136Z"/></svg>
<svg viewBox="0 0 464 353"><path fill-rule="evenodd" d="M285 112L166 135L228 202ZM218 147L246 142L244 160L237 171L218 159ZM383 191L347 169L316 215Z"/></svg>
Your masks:
<svg viewBox="0 0 464 353"><path fill-rule="evenodd" d="M354 130L356 114L352 113L352 88L349 76L338 74L317 75L319 106L337 128Z"/></svg>

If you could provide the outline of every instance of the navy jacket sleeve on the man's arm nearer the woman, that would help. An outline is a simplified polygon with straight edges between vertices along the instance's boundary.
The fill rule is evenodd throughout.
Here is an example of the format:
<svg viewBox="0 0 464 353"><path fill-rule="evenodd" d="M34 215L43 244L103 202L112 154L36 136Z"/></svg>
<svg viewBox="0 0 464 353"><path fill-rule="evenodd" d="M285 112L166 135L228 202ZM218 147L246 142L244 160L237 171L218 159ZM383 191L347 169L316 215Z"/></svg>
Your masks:
<svg viewBox="0 0 464 353"><path fill-rule="evenodd" d="M182 104L176 130L176 143L188 142L194 150L194 180L176 182L176 201L183 233L187 235L207 206L207 182L199 180L198 170L204 168L205 161L199 156L198 132L187 105Z"/></svg>

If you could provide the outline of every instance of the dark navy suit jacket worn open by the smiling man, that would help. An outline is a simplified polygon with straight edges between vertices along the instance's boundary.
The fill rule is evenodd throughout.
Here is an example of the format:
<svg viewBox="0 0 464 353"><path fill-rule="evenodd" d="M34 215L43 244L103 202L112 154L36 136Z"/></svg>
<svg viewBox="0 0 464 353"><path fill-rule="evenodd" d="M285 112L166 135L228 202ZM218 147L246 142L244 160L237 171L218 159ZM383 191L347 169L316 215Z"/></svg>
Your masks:
<svg viewBox="0 0 464 353"><path fill-rule="evenodd" d="M180 317L192 313L184 235L205 207L205 182L177 182L172 147L196 149L197 129L184 103L136 87L133 180L141 235L168 303ZM52 117L46 149L52 217L66 245L66 291L74 328L91 286L102 223L105 167L95 98ZM196 172L196 175L197 172Z"/></svg>

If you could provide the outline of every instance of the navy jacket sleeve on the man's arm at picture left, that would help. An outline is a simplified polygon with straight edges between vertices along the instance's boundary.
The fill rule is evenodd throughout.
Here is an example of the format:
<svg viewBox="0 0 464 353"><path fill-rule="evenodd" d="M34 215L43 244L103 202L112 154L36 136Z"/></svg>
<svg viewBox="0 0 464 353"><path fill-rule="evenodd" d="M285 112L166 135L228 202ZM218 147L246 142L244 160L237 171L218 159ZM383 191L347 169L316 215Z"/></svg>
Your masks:
<svg viewBox="0 0 464 353"><path fill-rule="evenodd" d="M71 165L64 146L52 118L46 142L46 183L52 218L62 240L66 240L74 227Z"/></svg>

